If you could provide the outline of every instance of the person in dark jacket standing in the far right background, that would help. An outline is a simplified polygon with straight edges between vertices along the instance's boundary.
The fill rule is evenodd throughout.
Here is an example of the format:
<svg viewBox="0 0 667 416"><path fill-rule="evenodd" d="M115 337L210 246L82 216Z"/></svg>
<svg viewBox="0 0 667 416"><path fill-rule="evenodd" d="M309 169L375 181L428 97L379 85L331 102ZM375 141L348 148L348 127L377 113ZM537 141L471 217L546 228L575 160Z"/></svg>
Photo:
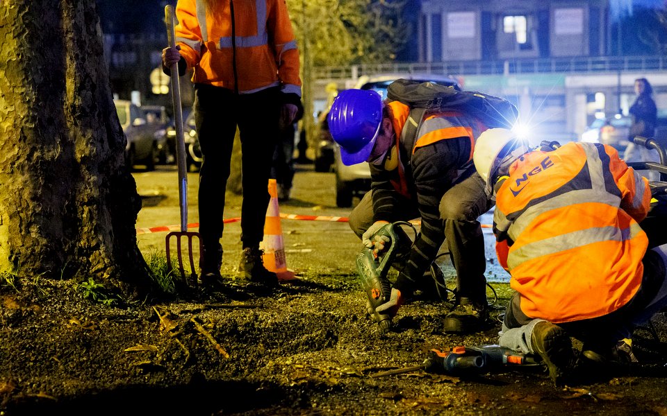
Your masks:
<svg viewBox="0 0 667 416"><path fill-rule="evenodd" d="M629 114L632 116L632 125L627 138L629 144L623 153L623 160L625 162L657 162L656 150L637 146L633 141L635 136L650 138L655 135L658 110L653 100L653 87L646 78L637 78L634 80L634 94L636 94L636 99L629 109ZM640 172L645 174L649 180L658 180L657 172Z"/></svg>

